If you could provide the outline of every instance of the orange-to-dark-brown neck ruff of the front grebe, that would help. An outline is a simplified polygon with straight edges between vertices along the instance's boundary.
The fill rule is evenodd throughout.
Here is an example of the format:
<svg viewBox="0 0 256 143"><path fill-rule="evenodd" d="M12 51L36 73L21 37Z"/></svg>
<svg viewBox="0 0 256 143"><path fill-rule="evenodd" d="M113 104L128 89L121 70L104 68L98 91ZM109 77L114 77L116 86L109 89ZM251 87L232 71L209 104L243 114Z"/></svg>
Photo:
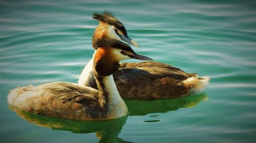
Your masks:
<svg viewBox="0 0 256 143"><path fill-rule="evenodd" d="M109 76L119 68L111 47L98 48L94 56L94 68L102 76Z"/></svg>

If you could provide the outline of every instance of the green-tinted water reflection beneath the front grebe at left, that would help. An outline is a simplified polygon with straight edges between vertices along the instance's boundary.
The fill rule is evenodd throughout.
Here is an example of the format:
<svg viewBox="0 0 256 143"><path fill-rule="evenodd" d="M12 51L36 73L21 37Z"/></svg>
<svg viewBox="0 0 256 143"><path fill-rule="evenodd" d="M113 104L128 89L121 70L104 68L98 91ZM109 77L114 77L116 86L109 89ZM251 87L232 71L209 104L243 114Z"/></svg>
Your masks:
<svg viewBox="0 0 256 143"><path fill-rule="evenodd" d="M122 141L121 138L118 138L118 134L121 132L122 127L127 120L127 116L114 120L104 121L67 120L35 115L19 110L13 106L10 107L17 113L19 117L40 127L47 127L54 130L66 130L73 133L96 132L96 136L99 138L99 142L112 143Z"/></svg>

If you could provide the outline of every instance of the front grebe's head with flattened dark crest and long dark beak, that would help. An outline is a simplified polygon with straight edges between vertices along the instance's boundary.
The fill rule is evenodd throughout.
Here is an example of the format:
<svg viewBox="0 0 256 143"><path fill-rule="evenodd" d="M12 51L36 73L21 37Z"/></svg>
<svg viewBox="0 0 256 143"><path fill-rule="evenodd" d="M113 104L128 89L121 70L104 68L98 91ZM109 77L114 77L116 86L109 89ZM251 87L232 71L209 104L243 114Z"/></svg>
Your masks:
<svg viewBox="0 0 256 143"><path fill-rule="evenodd" d="M95 41L95 48L97 50L94 56L94 67L101 75L113 74L122 60L153 60L137 54L129 45L116 39L98 39Z"/></svg>

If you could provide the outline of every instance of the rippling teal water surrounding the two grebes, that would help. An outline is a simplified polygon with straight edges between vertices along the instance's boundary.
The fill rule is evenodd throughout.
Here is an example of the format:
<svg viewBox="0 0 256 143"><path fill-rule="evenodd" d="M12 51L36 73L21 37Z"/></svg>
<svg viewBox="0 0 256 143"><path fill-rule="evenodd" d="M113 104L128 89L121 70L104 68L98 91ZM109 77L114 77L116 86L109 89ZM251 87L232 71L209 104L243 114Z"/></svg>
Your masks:
<svg viewBox="0 0 256 143"><path fill-rule="evenodd" d="M111 10L137 53L210 76L205 93L125 100L118 120L70 121L8 106L9 90L76 83L94 52L93 12ZM254 142L255 1L0 1L0 142ZM126 62L140 62L129 60ZM15 110L15 111L13 111Z"/></svg>

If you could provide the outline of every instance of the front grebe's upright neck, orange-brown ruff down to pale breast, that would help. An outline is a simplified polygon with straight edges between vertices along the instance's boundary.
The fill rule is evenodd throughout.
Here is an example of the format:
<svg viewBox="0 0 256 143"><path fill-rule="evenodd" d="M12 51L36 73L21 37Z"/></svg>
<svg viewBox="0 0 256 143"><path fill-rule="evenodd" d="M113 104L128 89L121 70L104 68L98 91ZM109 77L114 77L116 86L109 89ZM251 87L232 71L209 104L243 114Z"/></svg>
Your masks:
<svg viewBox="0 0 256 143"><path fill-rule="evenodd" d="M106 61L100 50L97 49L94 56L94 77L99 91L99 105L109 114L108 117L120 118L127 115L128 109L118 93L113 78L113 73L118 69L119 63L110 59Z"/></svg>

